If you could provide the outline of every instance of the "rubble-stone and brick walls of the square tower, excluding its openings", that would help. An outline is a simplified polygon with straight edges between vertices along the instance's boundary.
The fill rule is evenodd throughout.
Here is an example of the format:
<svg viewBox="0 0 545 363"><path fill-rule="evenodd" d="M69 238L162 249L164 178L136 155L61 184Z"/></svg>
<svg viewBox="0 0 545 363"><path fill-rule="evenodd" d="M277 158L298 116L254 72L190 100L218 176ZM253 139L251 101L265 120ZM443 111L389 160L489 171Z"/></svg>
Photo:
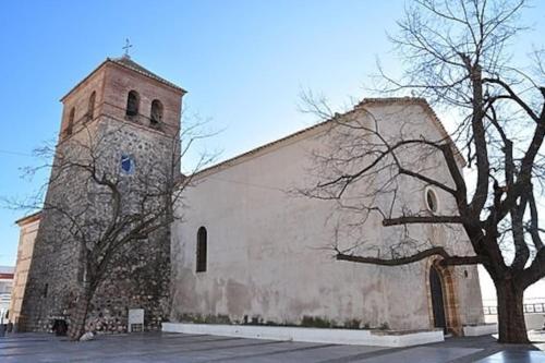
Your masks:
<svg viewBox="0 0 545 363"><path fill-rule="evenodd" d="M89 148L93 148L100 170L119 174L124 208L134 209L137 201L131 198L135 191L143 187L142 181L153 180L154 177L157 177L156 180L164 180L160 179L160 172L172 170L169 169L172 157L175 158L175 153L179 153L178 135L171 132L172 128L150 129L145 122L146 116L129 120L120 118L119 112L105 113L108 109L124 109L128 92L136 89L143 102L146 99L160 99L168 112L166 121L170 125L174 122L179 124L179 90L170 90L157 85L154 80L132 74L113 64L106 63L95 72L63 99L65 111L61 141L56 150L46 208L43 210L22 303L21 330L49 330L52 318L56 317L66 318L70 324L70 312L75 306L75 297L85 279L83 250L74 239L73 231L70 232L70 228L73 228L70 218L92 226L97 220L108 220L109 217L110 209L107 201L104 201L102 190L89 180L88 173L62 168L63 160L84 162L88 158ZM80 98L87 99L95 88L97 107L95 118L89 120L81 111L87 106ZM66 136L62 133L66 109L74 105L74 133ZM142 110L146 109L143 107ZM133 173L122 173L122 156L132 158L135 169ZM48 208L50 205L62 206L62 213ZM93 243L100 230L87 233L90 237L88 243ZM130 308L145 310L145 329L159 328L169 313L170 229L160 228L147 239L125 245L116 253L111 266L92 300L86 328L102 332L125 331Z"/></svg>

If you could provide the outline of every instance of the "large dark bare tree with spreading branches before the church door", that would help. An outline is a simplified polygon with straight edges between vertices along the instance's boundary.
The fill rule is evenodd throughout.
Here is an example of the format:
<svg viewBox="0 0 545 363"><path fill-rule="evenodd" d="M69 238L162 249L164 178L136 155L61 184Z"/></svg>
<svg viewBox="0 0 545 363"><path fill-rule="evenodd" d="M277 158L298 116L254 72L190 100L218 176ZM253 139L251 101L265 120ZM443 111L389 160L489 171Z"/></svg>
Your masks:
<svg viewBox="0 0 545 363"><path fill-rule="evenodd" d="M411 90L449 110L456 120L449 135L405 132L410 121L400 113L398 134L389 137L380 128L383 120L365 102L360 109L372 121L359 123L332 117L322 99L304 98L308 111L332 117L337 129L334 152L316 156L322 179L304 191L306 195L339 201L342 208L364 216L360 222L378 215L384 226L405 234L412 226L461 228L474 253L453 255L441 245L405 238L375 255L337 249L337 258L399 266L440 256L444 265L482 264L497 290L499 341L508 343L528 342L523 293L545 277L545 230L540 227L544 53L533 50L525 58L518 53L533 63L514 68L508 51L524 31L519 25L524 5L524 0L416 0L405 10L400 34L391 37L404 60L404 73L391 77L379 66L380 89ZM464 179L460 154L474 179ZM407 155L416 156L419 162ZM434 172L431 160L446 165L446 176ZM451 197L456 208L426 213L400 206L398 192L411 180ZM358 204L347 203L351 187L362 183L376 187Z"/></svg>

